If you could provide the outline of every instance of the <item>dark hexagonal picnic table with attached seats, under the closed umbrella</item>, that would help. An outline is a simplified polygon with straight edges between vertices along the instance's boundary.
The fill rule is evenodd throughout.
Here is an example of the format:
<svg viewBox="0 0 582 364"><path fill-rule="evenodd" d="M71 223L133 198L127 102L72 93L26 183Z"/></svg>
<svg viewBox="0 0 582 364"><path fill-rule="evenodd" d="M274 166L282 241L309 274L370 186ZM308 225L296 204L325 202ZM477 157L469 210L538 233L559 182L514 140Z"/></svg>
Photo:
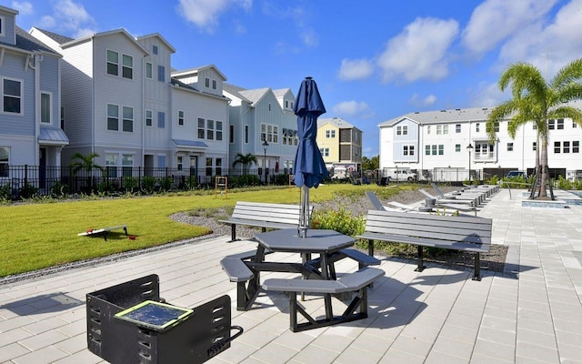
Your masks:
<svg viewBox="0 0 582 364"><path fill-rule="evenodd" d="M359 250L352 249L355 239L329 229L307 229L306 238L298 235L297 228L285 228L256 234L256 251L249 251L221 260L221 265L231 281L237 282L237 309L251 308L261 288L272 291L283 291L289 294L291 299L291 329L314 329L316 327L332 325L337 322L346 322L353 319L366 317L366 286L373 280L384 275L380 269L366 270L368 265L379 265L380 261L366 255ZM301 262L278 262L266 260L266 255L271 252L296 253L301 255ZM312 259L312 254L319 257ZM341 277L343 282L336 280L334 263L343 258L353 258L360 268L356 273L348 273ZM371 269L371 268L370 268ZM298 273L303 279L266 279L261 284L260 272L289 272ZM347 283L346 283L347 282ZM359 296L348 305L350 312L345 312L341 317L334 317L331 297L332 294L358 291ZM296 322L297 312L306 316L306 312L296 304L296 295L291 292L321 293L324 295L326 318L309 320L306 325ZM360 307L359 312L352 312ZM308 315L307 315L308 316Z"/></svg>

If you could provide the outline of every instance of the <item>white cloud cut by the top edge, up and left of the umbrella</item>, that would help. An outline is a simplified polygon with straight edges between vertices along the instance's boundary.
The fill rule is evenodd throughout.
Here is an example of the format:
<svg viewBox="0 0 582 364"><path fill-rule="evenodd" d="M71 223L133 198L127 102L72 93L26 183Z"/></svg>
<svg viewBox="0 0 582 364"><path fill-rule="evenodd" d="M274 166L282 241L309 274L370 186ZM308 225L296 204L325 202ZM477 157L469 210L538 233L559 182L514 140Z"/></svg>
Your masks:
<svg viewBox="0 0 582 364"><path fill-rule="evenodd" d="M220 15L229 10L231 5L248 10L252 7L253 0L180 0L178 13L187 22L212 33L218 25Z"/></svg>

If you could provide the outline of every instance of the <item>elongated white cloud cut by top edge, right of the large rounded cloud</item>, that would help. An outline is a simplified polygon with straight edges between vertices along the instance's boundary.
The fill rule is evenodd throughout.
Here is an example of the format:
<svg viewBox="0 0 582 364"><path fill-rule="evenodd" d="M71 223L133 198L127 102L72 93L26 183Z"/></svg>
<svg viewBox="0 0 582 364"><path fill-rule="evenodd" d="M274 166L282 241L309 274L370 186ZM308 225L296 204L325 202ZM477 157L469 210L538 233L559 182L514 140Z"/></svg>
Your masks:
<svg viewBox="0 0 582 364"><path fill-rule="evenodd" d="M462 42L470 52L482 55L547 15L556 3L557 0L487 0L473 11Z"/></svg>

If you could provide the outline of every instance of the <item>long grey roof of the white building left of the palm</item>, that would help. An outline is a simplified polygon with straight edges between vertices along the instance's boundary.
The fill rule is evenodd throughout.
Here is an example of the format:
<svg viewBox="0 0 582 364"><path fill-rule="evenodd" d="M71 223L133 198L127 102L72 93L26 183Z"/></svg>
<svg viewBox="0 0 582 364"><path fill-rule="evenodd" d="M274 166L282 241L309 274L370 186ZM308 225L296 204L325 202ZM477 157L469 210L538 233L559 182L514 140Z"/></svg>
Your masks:
<svg viewBox="0 0 582 364"><path fill-rule="evenodd" d="M404 116L398 116L386 120L378 126L394 126L398 122L407 118L420 125L456 123L462 121L487 121L491 109L488 107L457 108L454 110L439 110L408 113Z"/></svg>

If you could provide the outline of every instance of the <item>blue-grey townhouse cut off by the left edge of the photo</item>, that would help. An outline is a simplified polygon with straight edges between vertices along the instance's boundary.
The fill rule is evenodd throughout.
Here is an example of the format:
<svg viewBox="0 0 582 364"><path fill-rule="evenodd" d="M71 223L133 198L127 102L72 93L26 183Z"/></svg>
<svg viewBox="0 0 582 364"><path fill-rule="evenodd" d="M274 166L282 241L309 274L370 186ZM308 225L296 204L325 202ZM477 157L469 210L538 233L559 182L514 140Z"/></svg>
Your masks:
<svg viewBox="0 0 582 364"><path fill-rule="evenodd" d="M16 15L0 5L0 186L16 177L8 166L28 165L39 167L35 187L50 188L58 168L46 167L60 166L69 143L60 126L61 56L19 28Z"/></svg>

